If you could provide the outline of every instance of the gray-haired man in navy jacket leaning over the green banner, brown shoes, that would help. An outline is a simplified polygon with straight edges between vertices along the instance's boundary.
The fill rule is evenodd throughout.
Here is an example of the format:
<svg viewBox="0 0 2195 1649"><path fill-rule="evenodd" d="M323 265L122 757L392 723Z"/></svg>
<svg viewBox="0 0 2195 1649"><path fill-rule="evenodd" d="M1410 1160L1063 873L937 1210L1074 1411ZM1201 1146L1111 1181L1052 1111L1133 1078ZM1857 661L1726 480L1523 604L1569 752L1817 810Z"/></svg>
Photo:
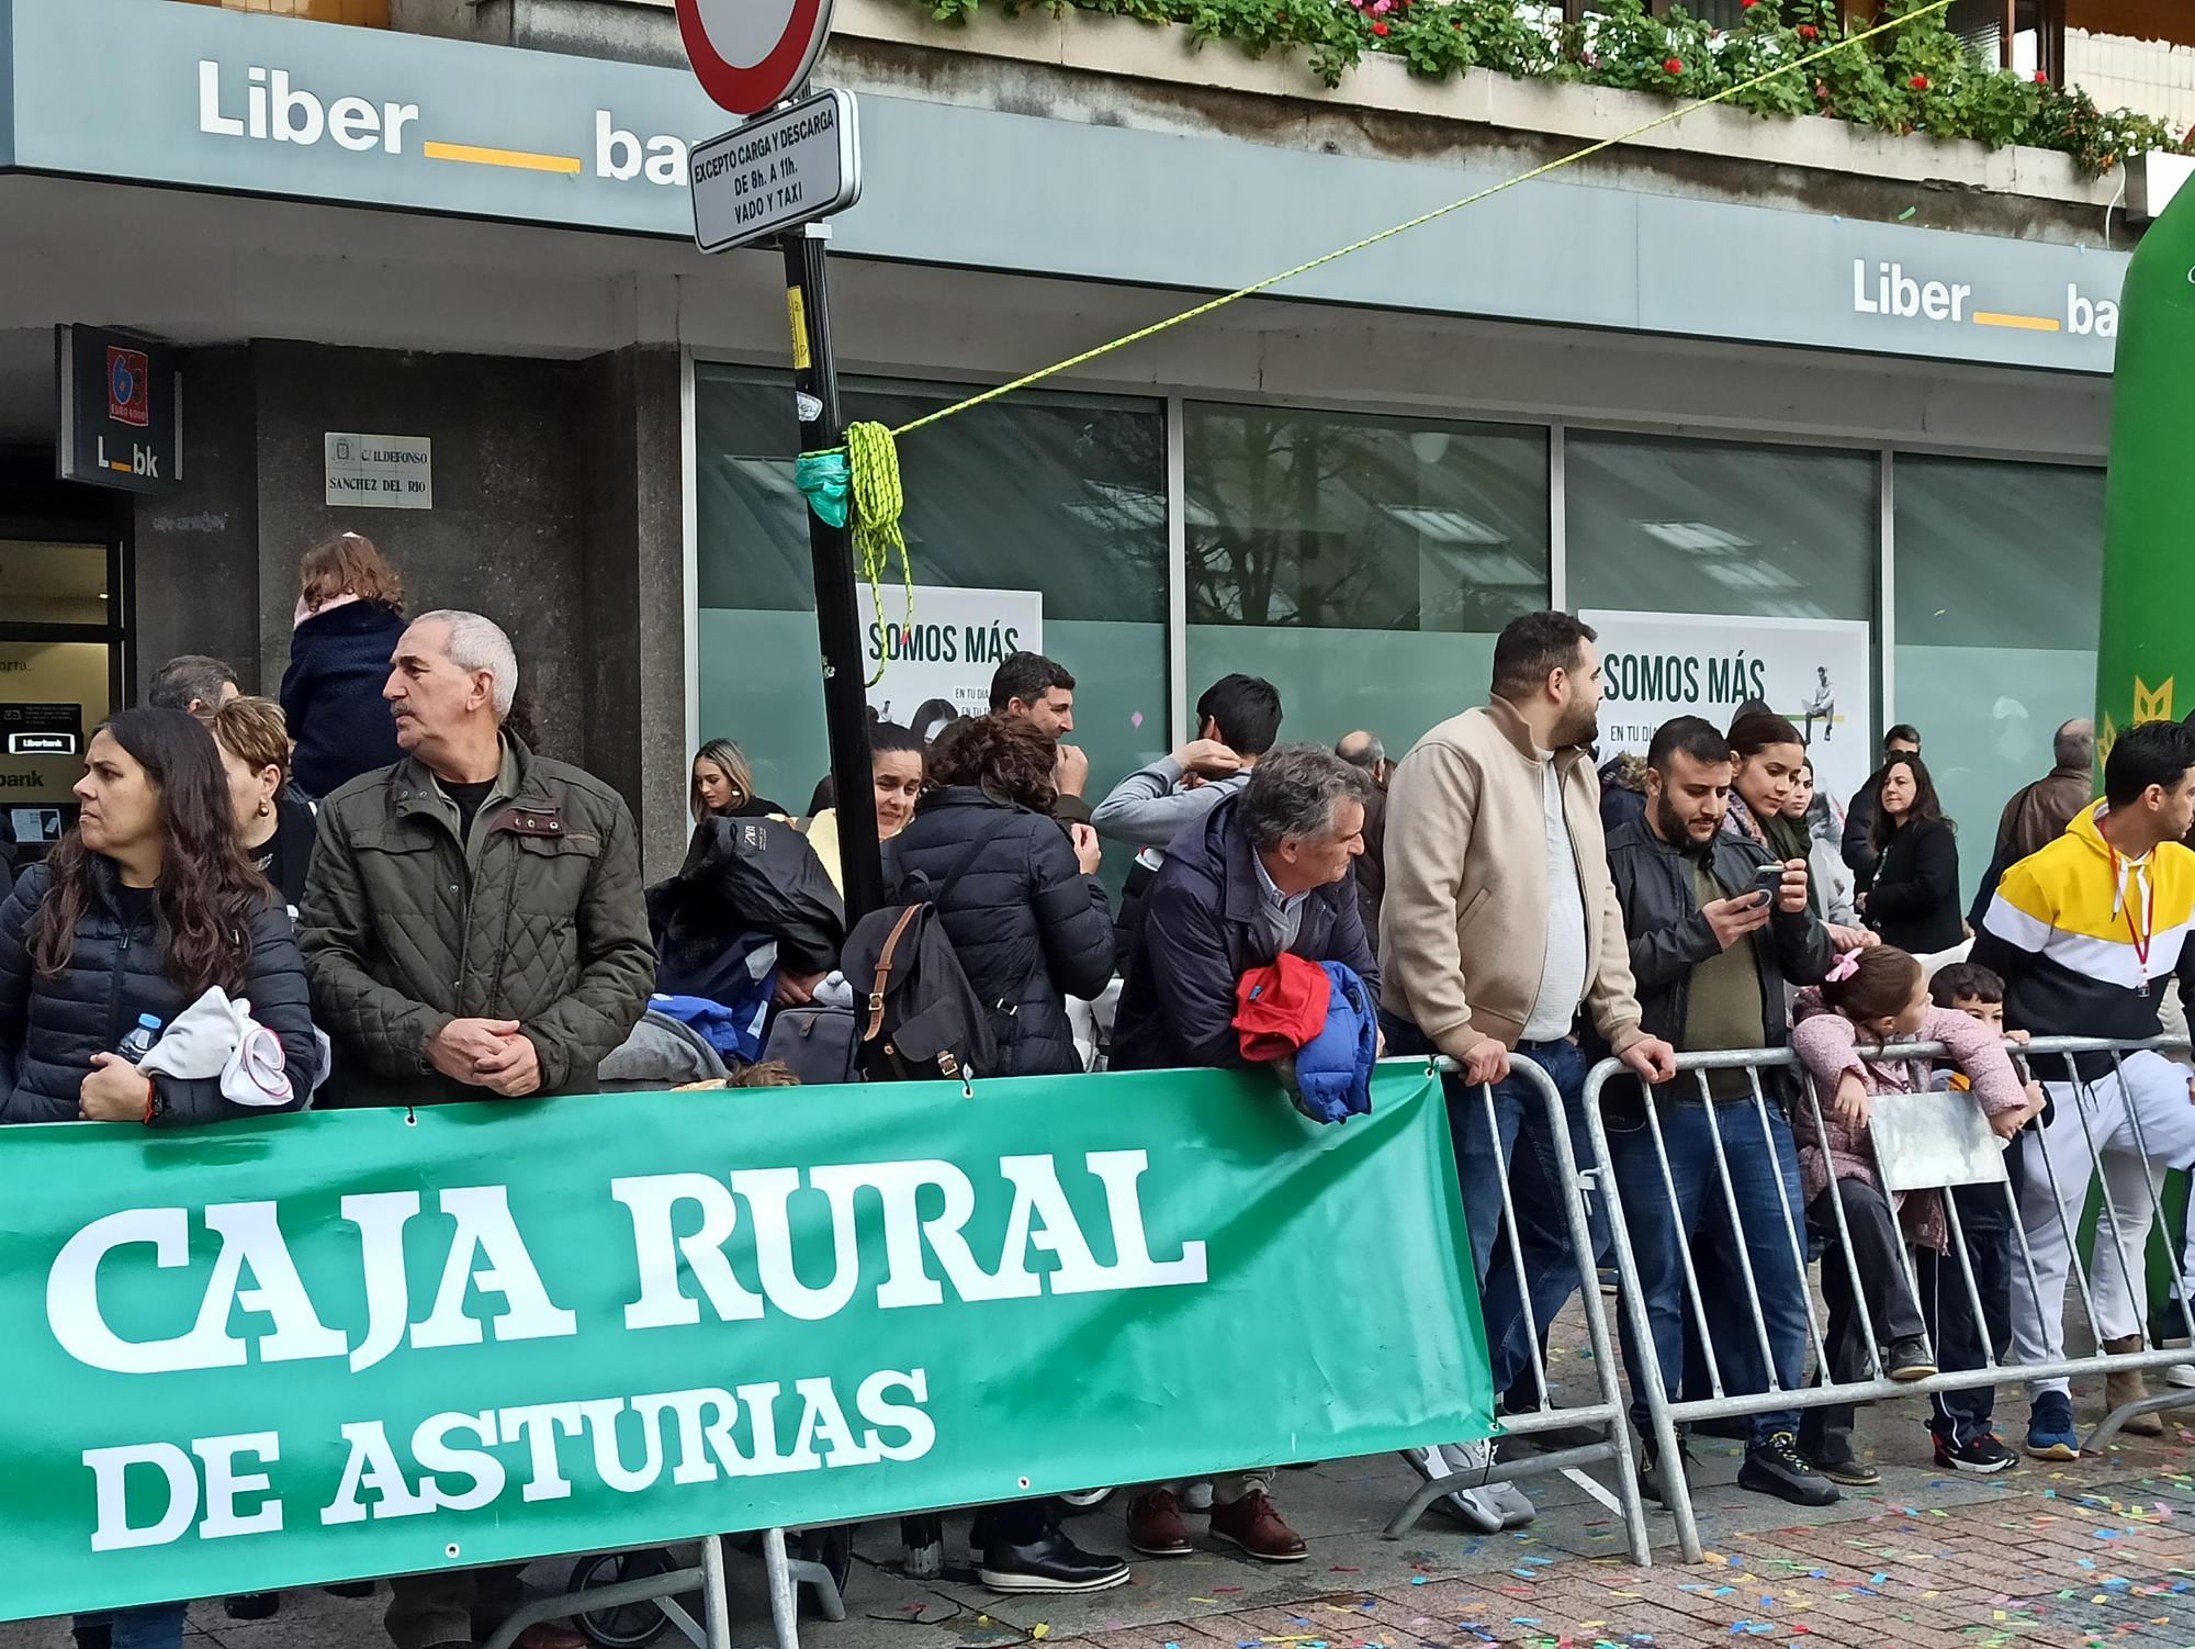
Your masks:
<svg viewBox="0 0 2195 1649"><path fill-rule="evenodd" d="M1365 981L1365 999L1378 997L1378 962L1350 891L1365 793L1365 775L1348 762L1282 744L1242 790L1174 837L1144 900L1113 1021L1113 1069L1249 1065L1234 1028L1236 981L1282 951L1343 962ZM1267 1563L1304 1557L1262 1471L1214 1478L1212 1537ZM1174 1484L1130 1502L1128 1544L1146 1557L1192 1550Z"/></svg>

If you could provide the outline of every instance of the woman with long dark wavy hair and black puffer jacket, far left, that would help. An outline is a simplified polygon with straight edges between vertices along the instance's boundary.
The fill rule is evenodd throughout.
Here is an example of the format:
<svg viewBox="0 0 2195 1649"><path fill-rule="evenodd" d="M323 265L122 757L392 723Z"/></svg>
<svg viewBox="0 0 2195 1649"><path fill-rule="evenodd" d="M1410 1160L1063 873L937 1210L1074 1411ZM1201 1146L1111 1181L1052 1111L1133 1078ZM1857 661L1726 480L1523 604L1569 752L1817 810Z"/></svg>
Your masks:
<svg viewBox="0 0 2195 1649"><path fill-rule="evenodd" d="M83 817L0 905L0 1122L213 1122L299 1109L318 1074L290 916L237 841L213 733L125 709L92 736ZM114 1050L209 986L281 1039L296 1098L239 1107L219 1078L147 1074Z"/></svg>

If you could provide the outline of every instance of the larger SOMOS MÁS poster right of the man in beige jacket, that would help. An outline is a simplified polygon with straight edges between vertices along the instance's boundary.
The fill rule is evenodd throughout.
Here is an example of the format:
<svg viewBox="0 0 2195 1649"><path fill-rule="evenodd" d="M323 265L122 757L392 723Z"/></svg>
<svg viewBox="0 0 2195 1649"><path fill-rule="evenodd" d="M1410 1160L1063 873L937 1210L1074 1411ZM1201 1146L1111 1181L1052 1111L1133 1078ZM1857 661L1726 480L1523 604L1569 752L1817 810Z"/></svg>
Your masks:
<svg viewBox="0 0 2195 1649"><path fill-rule="evenodd" d="M1600 755L1644 755L1673 716L1727 729L1767 700L1806 740L1839 806L1875 771L1875 672L1857 619L1741 619L1721 613L1580 610L1600 632Z"/></svg>

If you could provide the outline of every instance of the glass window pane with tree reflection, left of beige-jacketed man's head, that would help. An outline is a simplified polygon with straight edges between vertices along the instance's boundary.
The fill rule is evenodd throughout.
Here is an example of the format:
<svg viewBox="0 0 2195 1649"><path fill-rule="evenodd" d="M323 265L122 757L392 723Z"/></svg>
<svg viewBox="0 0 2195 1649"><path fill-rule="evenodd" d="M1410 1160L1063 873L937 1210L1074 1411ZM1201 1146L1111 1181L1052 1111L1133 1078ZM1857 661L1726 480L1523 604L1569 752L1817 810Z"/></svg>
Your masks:
<svg viewBox="0 0 2195 1649"><path fill-rule="evenodd" d="M1392 755L1486 700L1493 643L1547 604L1547 433L1185 408L1190 698L1240 670L1282 738ZM1181 736L1194 729L1179 729Z"/></svg>

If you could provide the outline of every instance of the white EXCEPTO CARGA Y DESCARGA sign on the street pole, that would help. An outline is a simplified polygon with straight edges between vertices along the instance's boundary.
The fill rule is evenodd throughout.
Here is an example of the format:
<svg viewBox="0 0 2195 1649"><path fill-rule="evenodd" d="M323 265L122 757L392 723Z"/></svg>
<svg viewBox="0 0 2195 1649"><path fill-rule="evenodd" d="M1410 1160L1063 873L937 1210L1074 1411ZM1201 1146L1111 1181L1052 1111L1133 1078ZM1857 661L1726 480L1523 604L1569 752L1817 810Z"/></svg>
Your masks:
<svg viewBox="0 0 2195 1649"><path fill-rule="evenodd" d="M705 253L777 235L860 200L860 132L852 92L817 92L696 143L694 244Z"/></svg>

